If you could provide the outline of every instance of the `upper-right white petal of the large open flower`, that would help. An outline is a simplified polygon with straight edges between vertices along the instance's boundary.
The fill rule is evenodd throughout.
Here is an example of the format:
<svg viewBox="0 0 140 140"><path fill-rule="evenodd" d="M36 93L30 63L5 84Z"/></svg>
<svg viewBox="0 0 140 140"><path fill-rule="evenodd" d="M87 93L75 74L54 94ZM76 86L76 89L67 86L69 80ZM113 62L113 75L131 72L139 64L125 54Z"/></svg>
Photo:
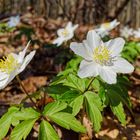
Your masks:
<svg viewBox="0 0 140 140"><path fill-rule="evenodd" d="M124 47L125 40L123 38L118 37L115 39L111 39L104 44L111 51L112 56L118 56Z"/></svg>

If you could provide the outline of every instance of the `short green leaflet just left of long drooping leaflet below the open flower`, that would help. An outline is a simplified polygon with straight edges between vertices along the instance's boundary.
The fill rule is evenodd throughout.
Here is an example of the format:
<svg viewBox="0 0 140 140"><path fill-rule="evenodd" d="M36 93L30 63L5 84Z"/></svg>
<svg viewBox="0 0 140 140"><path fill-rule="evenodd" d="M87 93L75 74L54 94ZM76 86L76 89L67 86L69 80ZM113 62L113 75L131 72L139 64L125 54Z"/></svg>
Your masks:
<svg viewBox="0 0 140 140"><path fill-rule="evenodd" d="M70 103L70 106L72 107L72 114L74 116L76 116L79 113L80 109L82 108L83 100L84 96L80 95Z"/></svg>

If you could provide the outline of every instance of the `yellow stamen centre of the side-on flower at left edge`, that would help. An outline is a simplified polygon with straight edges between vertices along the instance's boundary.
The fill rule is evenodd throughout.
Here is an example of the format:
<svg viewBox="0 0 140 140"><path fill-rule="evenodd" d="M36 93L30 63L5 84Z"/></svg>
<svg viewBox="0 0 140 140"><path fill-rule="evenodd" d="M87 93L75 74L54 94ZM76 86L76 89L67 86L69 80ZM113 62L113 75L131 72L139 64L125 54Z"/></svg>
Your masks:
<svg viewBox="0 0 140 140"><path fill-rule="evenodd" d="M13 57L12 54L9 54L7 57L0 59L0 71L10 74L18 67L17 60Z"/></svg>

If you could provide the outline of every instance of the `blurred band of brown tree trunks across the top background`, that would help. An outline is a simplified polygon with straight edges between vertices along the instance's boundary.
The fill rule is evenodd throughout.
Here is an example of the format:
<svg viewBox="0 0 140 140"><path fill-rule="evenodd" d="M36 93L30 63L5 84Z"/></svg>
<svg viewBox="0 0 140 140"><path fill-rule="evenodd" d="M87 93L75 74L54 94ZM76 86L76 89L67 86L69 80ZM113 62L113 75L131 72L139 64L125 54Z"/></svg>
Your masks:
<svg viewBox="0 0 140 140"><path fill-rule="evenodd" d="M45 18L67 18L77 23L97 24L118 18L140 27L140 0L0 0L0 18L24 14L27 7Z"/></svg>

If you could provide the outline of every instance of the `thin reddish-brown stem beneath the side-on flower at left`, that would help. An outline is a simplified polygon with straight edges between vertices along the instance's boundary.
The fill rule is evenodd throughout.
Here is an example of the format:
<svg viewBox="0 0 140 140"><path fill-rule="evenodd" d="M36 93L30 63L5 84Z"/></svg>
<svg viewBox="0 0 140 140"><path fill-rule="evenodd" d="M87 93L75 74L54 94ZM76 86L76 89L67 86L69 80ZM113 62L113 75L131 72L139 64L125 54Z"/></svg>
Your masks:
<svg viewBox="0 0 140 140"><path fill-rule="evenodd" d="M36 103L34 102L34 100L32 99L32 97L29 95L29 93L27 92L27 90L25 89L22 81L20 80L19 76L16 76L17 81L19 82L23 92L28 96L28 98L30 99L30 101L32 102L32 104L36 107L36 109L38 109ZM40 111L39 111L40 112Z"/></svg>

